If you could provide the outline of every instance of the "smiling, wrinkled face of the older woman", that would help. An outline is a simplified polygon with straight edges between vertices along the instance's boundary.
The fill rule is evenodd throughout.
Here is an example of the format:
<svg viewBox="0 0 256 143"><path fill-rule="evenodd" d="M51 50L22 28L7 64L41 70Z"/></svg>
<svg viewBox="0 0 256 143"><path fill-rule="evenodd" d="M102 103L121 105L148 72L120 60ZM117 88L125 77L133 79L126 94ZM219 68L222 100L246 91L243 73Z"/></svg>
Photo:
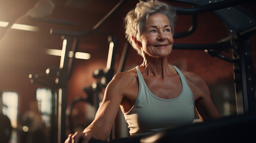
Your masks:
<svg viewBox="0 0 256 143"><path fill-rule="evenodd" d="M171 53L173 38L169 19L164 14L152 14L143 26L140 44L145 54L166 57Z"/></svg>

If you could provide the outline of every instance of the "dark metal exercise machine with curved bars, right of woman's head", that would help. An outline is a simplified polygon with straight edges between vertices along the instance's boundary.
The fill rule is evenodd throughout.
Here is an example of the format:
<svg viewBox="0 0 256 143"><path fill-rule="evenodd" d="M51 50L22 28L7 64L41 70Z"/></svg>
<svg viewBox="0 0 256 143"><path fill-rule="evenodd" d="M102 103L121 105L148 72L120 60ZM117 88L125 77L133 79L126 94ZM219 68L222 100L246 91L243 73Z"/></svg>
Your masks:
<svg viewBox="0 0 256 143"><path fill-rule="evenodd" d="M195 15L212 12L224 22L229 30L226 38L220 39L215 43L206 44L183 44L174 43L174 49L205 50L212 57L218 57L233 63L236 97L242 91L243 111L245 114L256 113L256 99L254 89L254 72L252 65L251 43L249 38L256 33L256 20L248 14L246 10L239 7L240 4L255 2L252 0L224 0L224 1L193 1L193 0L169 0L174 2L184 2L192 4L191 8L175 7L177 14L193 15L192 27L196 27ZM236 6L236 7L233 7ZM178 33L178 38L187 36ZM175 38L175 34L174 34ZM231 48L232 58L221 54L221 51ZM238 99L238 98L237 98ZM238 100L236 100L238 102Z"/></svg>

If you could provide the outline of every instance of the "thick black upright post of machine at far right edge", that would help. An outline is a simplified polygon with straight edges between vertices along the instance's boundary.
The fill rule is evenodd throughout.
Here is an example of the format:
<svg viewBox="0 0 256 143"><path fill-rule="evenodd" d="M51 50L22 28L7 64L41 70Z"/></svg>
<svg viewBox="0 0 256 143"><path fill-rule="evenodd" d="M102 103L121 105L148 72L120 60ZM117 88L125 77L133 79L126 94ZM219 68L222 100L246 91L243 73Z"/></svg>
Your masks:
<svg viewBox="0 0 256 143"><path fill-rule="evenodd" d="M254 95L251 43L249 38L245 36L239 36L238 39L232 42L236 96L238 96L239 91L242 91L244 114L255 113L256 100Z"/></svg>

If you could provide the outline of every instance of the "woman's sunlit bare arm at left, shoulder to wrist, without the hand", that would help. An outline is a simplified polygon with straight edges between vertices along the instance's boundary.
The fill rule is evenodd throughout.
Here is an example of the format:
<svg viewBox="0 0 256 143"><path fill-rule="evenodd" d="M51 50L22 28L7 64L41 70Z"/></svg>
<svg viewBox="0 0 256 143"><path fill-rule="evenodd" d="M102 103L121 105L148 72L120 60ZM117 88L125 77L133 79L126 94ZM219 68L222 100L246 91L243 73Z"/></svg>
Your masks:
<svg viewBox="0 0 256 143"><path fill-rule="evenodd" d="M118 80L112 80L109 85L107 85L103 101L98 108L95 119L91 125L84 130L84 133L91 133L94 139L103 141L109 138L113 122L115 121L119 105L123 98L120 85Z"/></svg>

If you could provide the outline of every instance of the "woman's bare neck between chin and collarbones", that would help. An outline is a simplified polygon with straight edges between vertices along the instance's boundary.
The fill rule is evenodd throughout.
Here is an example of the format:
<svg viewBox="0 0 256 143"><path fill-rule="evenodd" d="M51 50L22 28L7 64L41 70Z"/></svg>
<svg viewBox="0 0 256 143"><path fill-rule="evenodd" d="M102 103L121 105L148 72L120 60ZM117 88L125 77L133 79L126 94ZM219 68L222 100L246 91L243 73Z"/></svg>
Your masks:
<svg viewBox="0 0 256 143"><path fill-rule="evenodd" d="M164 77L169 74L170 71L170 65L168 64L167 57L155 58L147 56L144 58L141 66L144 67L144 71L146 71L149 76Z"/></svg>

